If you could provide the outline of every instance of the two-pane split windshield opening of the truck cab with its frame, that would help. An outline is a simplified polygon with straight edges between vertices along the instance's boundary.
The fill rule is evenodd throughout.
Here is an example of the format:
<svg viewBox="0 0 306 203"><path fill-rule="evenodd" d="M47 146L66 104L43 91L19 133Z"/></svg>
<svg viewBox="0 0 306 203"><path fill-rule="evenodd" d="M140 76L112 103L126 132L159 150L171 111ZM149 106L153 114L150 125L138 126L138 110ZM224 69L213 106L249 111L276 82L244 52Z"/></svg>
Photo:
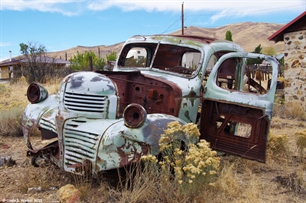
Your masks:
<svg viewBox="0 0 306 203"><path fill-rule="evenodd" d="M143 48L146 50L146 61L144 66L126 66L127 56L129 51L132 49ZM183 55L186 53L196 53L197 61L193 63L193 66L184 67L182 66ZM147 70L162 72L170 75L177 75L180 77L193 78L195 77L203 64L204 53L203 49L199 46L192 46L190 44L173 44L165 43L162 41L156 42L139 42L139 43L130 43L126 44L120 53L120 56L117 60L118 70ZM186 59L187 60L187 59ZM187 62L186 62L187 63ZM186 64L185 63L185 64ZM173 67L177 67L178 70L174 71ZM181 69L181 70L179 70ZM190 69L190 70L186 70ZM183 71L182 71L183 70ZM178 72L180 71L180 72ZM185 72L184 72L185 71Z"/></svg>

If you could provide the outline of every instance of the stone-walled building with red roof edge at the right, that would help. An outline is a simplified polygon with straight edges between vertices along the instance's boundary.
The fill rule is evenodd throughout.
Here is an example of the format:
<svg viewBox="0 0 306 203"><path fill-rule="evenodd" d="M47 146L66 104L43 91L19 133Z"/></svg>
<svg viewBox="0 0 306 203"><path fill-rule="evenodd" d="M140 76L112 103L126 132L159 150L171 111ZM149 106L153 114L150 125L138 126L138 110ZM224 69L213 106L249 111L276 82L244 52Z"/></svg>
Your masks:
<svg viewBox="0 0 306 203"><path fill-rule="evenodd" d="M268 39L284 42L286 104L306 111L306 11Z"/></svg>

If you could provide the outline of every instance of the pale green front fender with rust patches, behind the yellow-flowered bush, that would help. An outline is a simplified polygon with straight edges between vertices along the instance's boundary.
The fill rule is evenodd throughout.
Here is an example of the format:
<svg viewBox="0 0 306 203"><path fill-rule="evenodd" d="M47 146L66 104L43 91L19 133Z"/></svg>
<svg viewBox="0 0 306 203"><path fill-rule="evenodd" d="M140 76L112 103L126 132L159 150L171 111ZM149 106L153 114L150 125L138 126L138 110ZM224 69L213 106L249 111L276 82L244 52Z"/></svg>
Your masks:
<svg viewBox="0 0 306 203"><path fill-rule="evenodd" d="M149 114L139 128L128 128L123 120L112 125L105 132L99 146L98 170L109 170L138 161L142 155L159 154L158 141L169 122L185 121L165 114Z"/></svg>

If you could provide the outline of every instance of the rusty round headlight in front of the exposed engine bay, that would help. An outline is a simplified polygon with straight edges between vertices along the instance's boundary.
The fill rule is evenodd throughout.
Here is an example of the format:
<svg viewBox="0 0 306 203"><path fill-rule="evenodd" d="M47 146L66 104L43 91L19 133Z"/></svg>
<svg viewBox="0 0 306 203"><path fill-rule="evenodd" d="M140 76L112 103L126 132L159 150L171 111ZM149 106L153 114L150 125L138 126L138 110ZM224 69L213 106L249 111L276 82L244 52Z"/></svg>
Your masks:
<svg viewBox="0 0 306 203"><path fill-rule="evenodd" d="M124 124L129 128L140 127L146 118L147 112L139 104L129 104L123 111Z"/></svg>

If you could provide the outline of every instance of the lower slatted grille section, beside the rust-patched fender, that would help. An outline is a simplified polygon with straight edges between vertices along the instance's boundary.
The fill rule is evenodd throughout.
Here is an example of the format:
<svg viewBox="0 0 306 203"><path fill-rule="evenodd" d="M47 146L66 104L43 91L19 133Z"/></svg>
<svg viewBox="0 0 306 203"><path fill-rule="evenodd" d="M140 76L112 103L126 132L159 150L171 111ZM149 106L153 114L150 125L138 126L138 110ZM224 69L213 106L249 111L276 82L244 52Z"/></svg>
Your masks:
<svg viewBox="0 0 306 203"><path fill-rule="evenodd" d="M97 141L97 134L80 131L73 124L65 125L65 165L83 163L85 159L94 160L96 157L95 145Z"/></svg>

